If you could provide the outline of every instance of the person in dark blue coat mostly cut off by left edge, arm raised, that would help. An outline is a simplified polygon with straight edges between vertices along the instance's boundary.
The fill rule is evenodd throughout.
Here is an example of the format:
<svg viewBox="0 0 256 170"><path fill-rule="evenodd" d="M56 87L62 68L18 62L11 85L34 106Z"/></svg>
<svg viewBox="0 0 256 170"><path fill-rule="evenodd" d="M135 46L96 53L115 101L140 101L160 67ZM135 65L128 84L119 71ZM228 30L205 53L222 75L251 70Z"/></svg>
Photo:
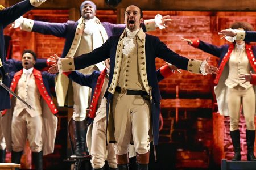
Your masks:
<svg viewBox="0 0 256 170"><path fill-rule="evenodd" d="M39 6L46 0L25 0L17 3L9 8L4 8L0 5L0 77L3 79L3 83L9 87L9 67L5 63L6 52L5 52L5 41L3 38L3 29L14 20L18 19L20 16L25 14L27 11L32 10L32 8ZM0 111L10 108L10 96L9 92L0 87L1 102Z"/></svg>

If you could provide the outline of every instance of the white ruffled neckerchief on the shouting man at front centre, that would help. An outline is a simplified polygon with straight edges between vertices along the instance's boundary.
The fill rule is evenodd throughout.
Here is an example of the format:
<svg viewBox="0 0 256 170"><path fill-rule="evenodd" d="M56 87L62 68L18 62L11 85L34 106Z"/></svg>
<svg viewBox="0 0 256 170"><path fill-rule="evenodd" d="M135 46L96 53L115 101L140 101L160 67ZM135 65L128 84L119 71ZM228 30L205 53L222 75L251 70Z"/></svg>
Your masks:
<svg viewBox="0 0 256 170"><path fill-rule="evenodd" d="M139 32L139 29L131 32L129 29L126 28L127 37L123 38L123 49L122 49L122 53L125 54L126 56L128 56L131 50L133 50L133 48L135 47L135 44L133 43L133 38L135 37L135 35L137 35L138 32Z"/></svg>

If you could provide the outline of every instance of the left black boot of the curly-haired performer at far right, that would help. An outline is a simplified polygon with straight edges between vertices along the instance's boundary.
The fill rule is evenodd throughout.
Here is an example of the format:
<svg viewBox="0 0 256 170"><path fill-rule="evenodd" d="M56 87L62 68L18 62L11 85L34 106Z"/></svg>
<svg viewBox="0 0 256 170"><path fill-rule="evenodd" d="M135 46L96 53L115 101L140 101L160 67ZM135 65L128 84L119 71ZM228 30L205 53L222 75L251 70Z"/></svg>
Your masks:
<svg viewBox="0 0 256 170"><path fill-rule="evenodd" d="M230 131L230 136L232 139L233 147L234 147L234 157L232 158L233 161L241 160L241 154L240 154L240 131L234 130Z"/></svg>

